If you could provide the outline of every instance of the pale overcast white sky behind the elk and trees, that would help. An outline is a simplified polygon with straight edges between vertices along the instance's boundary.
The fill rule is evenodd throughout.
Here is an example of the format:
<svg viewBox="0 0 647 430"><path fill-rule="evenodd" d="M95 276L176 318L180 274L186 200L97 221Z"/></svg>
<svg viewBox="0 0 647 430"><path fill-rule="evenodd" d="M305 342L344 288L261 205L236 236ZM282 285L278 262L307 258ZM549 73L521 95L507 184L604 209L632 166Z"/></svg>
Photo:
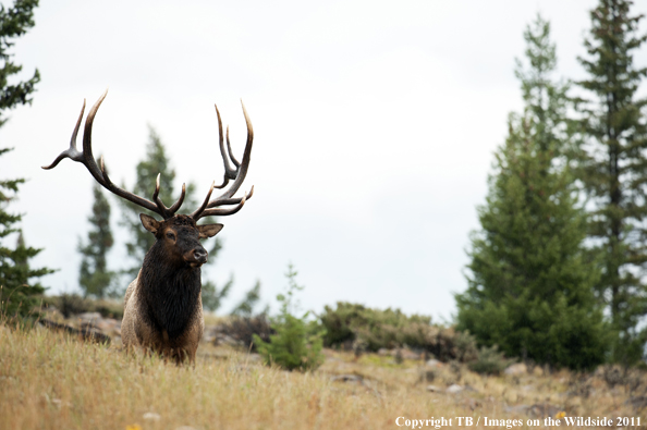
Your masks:
<svg viewBox="0 0 647 430"><path fill-rule="evenodd" d="M636 3L634 13L647 12ZM45 248L34 265L60 269L44 279L49 292L77 287L94 180L71 160L40 165L68 148L83 99L91 106L109 86L93 136L112 180L133 184L150 124L199 198L222 177L213 102L240 158L245 101L256 137L243 188L254 184L255 195L221 219L224 248L204 274L235 275L221 312L256 279L274 304L292 261L306 309L347 300L439 321L466 287L492 151L522 106L513 71L523 30L540 12L558 45L556 77L582 77L576 57L596 2L179 4L42 1L15 46L23 77L38 67L41 83L0 128L0 147L15 147L0 158L0 177L28 179L12 208L26 213L27 244ZM635 61L647 64L645 48ZM117 228L115 202L113 213ZM112 268L124 263L123 238Z"/></svg>

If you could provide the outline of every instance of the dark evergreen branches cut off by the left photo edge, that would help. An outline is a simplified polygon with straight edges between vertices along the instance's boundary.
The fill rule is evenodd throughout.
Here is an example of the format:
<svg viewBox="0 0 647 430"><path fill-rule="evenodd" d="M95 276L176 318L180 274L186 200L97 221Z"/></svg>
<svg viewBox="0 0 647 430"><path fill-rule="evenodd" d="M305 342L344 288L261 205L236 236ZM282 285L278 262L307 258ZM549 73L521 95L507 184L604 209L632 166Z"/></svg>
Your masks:
<svg viewBox="0 0 647 430"><path fill-rule="evenodd" d="M0 126L7 122L5 110L30 103L29 96L40 79L36 70L30 79L9 85L9 78L22 71L21 65L11 61L9 50L14 45L14 38L34 26L34 9L37 5L38 0L16 0L9 9L0 4ZM0 156L10 150L0 148ZM16 225L22 216L8 211L9 204L16 198L19 186L24 182L24 179L0 180L0 314L10 317L25 316L32 310L36 296L45 291L33 279L52 272L47 268L29 267L29 259L41 249L25 245L22 231ZM9 247L8 242L16 233L15 247Z"/></svg>

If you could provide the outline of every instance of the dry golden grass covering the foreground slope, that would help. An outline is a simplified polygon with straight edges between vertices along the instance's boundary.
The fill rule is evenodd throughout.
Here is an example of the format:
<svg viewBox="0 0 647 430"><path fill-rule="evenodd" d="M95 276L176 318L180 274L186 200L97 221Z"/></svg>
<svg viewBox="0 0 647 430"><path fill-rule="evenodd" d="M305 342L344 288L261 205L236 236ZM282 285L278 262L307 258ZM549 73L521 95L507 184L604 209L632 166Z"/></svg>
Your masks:
<svg viewBox="0 0 647 430"><path fill-rule="evenodd" d="M453 418L457 427L459 416L525 421L527 415L510 407L545 402L569 416L638 416L625 404L628 389L611 390L600 378L577 385L566 372L484 378L444 366L427 382L420 363L327 356L314 373L290 373L203 344L195 368L175 367L117 346L0 325L0 429L395 429L401 416ZM332 381L342 373L363 380ZM431 393L429 383L473 390Z"/></svg>

